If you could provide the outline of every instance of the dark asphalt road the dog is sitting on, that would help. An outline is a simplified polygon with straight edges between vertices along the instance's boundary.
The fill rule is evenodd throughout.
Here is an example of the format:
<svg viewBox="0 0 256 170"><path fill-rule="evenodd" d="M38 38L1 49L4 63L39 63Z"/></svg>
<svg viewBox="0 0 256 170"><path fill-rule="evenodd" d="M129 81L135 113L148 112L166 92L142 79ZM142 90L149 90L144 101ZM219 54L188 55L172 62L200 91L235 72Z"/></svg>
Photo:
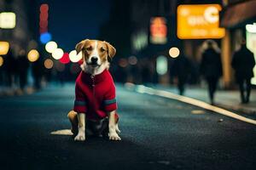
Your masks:
<svg viewBox="0 0 256 170"><path fill-rule="evenodd" d="M256 127L118 87L120 142L52 135L70 127L73 85L0 97L0 169L255 169ZM223 122L219 122L223 119Z"/></svg>

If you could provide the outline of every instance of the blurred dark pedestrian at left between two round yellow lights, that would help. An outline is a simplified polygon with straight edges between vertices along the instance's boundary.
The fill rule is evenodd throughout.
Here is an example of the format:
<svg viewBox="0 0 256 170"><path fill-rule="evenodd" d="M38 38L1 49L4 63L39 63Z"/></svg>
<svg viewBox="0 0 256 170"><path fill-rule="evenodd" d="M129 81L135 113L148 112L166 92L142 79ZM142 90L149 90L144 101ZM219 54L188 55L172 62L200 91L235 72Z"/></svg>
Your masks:
<svg viewBox="0 0 256 170"><path fill-rule="evenodd" d="M26 59L26 51L21 49L18 55L18 71L20 77L20 89L23 92L27 82L28 59Z"/></svg>

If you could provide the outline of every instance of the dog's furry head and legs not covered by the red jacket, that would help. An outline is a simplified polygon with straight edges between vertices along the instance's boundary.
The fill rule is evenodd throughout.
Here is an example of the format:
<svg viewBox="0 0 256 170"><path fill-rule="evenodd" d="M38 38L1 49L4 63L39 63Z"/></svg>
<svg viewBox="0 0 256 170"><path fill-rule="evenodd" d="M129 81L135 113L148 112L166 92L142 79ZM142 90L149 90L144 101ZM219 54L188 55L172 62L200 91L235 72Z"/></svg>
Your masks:
<svg viewBox="0 0 256 170"><path fill-rule="evenodd" d="M81 65L82 70L96 77L101 75L103 71L108 70L109 62L108 58L113 58L116 53L115 48L108 43L98 40L85 39L76 45L77 54L82 52L83 64ZM90 105L88 105L90 107ZM120 140L119 127L116 121L116 111L109 111L108 113L108 138L110 140ZM85 140L85 123L86 113L77 113L70 111L68 118L72 123L73 133L76 135L74 140L84 141ZM77 129L77 130L76 130ZM76 132L77 131L77 132ZM87 131L86 131L87 132Z"/></svg>

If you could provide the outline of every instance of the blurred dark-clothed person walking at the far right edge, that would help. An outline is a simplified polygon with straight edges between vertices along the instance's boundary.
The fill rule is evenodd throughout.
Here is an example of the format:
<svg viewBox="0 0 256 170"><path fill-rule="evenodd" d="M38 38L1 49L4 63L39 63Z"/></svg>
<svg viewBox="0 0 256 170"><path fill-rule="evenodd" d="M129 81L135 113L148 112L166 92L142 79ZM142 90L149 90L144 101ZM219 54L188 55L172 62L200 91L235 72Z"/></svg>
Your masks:
<svg viewBox="0 0 256 170"><path fill-rule="evenodd" d="M245 40L242 40L241 48L234 54L231 65L235 70L236 82L239 84L241 103L248 103L251 93L251 78L253 77L255 59L253 53L247 49ZM244 85L246 85L246 96Z"/></svg>

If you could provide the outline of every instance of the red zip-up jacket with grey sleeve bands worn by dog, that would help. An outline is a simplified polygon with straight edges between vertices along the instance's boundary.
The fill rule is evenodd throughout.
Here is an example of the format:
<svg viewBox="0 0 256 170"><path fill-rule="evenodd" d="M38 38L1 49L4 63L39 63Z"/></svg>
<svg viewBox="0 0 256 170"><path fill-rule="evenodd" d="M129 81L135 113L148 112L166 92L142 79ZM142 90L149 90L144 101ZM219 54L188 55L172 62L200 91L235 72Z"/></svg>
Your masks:
<svg viewBox="0 0 256 170"><path fill-rule="evenodd" d="M85 113L88 119L98 120L107 117L108 111L116 109L115 87L109 71L96 76L81 71L76 80L73 111Z"/></svg>

